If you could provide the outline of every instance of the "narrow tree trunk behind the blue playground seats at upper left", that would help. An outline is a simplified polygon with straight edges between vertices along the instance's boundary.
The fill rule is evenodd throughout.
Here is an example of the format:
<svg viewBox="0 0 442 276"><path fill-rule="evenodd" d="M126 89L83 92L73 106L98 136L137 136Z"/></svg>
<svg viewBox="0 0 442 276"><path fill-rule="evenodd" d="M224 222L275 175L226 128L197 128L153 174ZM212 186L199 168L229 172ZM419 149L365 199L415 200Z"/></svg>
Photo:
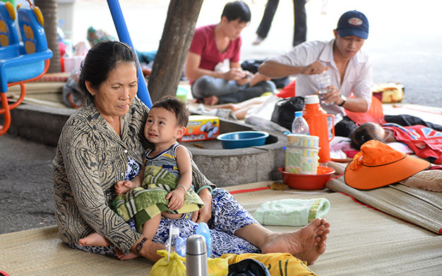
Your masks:
<svg viewBox="0 0 442 276"><path fill-rule="evenodd" d="M34 4L42 11L47 47L52 51L52 59L47 73L61 72L59 36L56 32L58 20L56 15L56 0L35 0Z"/></svg>

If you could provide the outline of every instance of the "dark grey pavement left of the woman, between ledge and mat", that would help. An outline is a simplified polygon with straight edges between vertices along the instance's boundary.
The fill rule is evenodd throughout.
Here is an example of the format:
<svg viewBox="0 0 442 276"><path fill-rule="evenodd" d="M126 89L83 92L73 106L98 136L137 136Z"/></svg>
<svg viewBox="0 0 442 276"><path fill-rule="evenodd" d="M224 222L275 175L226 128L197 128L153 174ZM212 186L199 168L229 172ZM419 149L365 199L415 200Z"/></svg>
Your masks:
<svg viewBox="0 0 442 276"><path fill-rule="evenodd" d="M55 149L0 136L0 234L54 225Z"/></svg>

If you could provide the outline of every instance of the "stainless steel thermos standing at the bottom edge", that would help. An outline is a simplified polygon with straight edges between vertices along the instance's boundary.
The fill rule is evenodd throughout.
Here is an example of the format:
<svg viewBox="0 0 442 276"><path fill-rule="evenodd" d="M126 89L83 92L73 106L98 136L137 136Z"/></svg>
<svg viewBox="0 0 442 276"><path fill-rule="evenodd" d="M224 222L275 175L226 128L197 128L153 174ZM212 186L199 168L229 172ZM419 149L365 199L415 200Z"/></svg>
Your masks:
<svg viewBox="0 0 442 276"><path fill-rule="evenodd" d="M186 276L208 276L207 244L195 234L186 241Z"/></svg>

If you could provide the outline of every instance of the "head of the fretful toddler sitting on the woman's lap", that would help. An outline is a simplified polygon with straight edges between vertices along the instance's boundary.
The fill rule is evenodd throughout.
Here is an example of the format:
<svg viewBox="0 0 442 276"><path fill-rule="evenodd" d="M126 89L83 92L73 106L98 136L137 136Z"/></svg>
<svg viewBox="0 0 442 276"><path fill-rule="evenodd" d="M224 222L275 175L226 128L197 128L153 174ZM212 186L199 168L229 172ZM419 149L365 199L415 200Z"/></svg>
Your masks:
<svg viewBox="0 0 442 276"><path fill-rule="evenodd" d="M186 132L189 110L177 97L165 96L153 104L144 135L152 143L174 143Z"/></svg>

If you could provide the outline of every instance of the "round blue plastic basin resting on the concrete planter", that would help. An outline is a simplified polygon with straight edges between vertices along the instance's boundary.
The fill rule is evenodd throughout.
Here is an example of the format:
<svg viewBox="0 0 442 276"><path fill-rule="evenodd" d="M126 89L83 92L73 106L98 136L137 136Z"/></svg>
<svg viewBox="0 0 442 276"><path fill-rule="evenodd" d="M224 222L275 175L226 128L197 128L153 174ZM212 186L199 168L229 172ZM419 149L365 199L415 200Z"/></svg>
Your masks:
<svg viewBox="0 0 442 276"><path fill-rule="evenodd" d="M264 145L266 138L268 138L268 133L265 131L235 131L223 133L217 137L224 149Z"/></svg>

